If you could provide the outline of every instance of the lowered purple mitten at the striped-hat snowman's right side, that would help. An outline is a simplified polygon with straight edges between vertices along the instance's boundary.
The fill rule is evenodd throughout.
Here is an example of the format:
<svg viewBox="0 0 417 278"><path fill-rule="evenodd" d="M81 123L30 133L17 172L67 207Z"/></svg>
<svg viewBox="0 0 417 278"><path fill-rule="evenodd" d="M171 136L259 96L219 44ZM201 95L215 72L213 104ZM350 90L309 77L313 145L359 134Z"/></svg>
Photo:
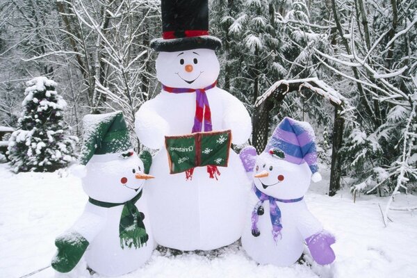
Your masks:
<svg viewBox="0 0 417 278"><path fill-rule="evenodd" d="M319 265L333 263L336 256L330 245L335 242L334 236L325 230L306 238L306 243L309 247L311 256L313 256L314 261Z"/></svg>

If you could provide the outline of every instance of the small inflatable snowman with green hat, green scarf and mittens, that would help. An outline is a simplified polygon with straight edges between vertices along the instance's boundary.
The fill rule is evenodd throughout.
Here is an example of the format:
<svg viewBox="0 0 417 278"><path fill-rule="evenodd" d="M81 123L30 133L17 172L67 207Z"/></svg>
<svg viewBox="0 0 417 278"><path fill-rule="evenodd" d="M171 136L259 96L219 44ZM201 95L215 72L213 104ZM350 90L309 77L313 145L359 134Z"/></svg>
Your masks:
<svg viewBox="0 0 417 278"><path fill-rule="evenodd" d="M56 238L51 265L66 273L85 261L100 275L123 275L154 250L142 195L145 181L153 178L147 174L152 156L144 152L140 159L133 152L122 112L86 115L83 127L78 172L89 199L81 217Z"/></svg>

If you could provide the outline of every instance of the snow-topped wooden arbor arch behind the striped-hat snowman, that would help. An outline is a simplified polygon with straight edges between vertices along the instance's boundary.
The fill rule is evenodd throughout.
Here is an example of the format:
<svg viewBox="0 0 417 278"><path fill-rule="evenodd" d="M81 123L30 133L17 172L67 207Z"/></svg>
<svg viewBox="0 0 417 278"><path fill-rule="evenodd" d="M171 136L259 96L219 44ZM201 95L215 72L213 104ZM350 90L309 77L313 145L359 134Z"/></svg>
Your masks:
<svg viewBox="0 0 417 278"><path fill-rule="evenodd" d="M262 152L268 142L270 111L274 108L274 101L283 101L289 92L300 91L307 88L318 95L328 99L334 106L334 126L332 140L332 168L330 171L329 196L334 196L341 188L341 161L338 155L342 146L343 126L345 119L343 114L347 108L347 99L329 87L325 82L317 78L280 80L275 82L255 102L254 114L252 116L253 136L252 145L257 152Z"/></svg>

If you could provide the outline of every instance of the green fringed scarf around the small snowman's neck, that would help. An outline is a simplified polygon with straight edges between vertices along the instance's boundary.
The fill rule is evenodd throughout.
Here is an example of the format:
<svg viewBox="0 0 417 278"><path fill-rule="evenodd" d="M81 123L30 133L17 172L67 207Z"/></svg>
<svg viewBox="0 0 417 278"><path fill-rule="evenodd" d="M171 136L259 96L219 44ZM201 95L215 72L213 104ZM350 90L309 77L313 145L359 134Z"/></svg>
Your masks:
<svg viewBox="0 0 417 278"><path fill-rule="evenodd" d="M103 208L123 206L119 224L120 247L122 249L124 249L124 246L131 248L132 245L138 249L142 245L145 245L149 238L146 233L145 224L143 224L145 215L135 206L141 196L142 190L133 199L124 203L108 203L97 201L96 199L92 199L92 197L88 198L88 202Z"/></svg>

